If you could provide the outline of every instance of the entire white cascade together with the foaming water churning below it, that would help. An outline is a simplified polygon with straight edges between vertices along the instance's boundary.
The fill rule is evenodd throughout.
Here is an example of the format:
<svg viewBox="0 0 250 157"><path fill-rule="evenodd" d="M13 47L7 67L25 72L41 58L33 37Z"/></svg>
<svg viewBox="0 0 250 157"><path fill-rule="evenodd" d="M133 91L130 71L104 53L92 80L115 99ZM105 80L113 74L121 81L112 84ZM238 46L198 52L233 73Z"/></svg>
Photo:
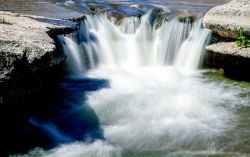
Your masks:
<svg viewBox="0 0 250 157"><path fill-rule="evenodd" d="M198 70L210 31L202 19L156 21L152 12L119 22L89 15L79 32L60 37L71 75L109 82L86 100L104 139L41 156L188 156L228 148L221 138L235 128L234 107L243 100Z"/></svg>

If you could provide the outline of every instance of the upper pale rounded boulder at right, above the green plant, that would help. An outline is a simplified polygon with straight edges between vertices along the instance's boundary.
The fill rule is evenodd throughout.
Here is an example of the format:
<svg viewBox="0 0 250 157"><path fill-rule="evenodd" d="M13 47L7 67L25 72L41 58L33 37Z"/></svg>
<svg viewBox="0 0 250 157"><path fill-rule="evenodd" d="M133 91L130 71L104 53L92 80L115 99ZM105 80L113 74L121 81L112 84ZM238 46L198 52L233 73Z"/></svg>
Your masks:
<svg viewBox="0 0 250 157"><path fill-rule="evenodd" d="M223 37L235 38L235 29L239 28L250 35L250 1L232 0L212 8L205 15L203 25Z"/></svg>

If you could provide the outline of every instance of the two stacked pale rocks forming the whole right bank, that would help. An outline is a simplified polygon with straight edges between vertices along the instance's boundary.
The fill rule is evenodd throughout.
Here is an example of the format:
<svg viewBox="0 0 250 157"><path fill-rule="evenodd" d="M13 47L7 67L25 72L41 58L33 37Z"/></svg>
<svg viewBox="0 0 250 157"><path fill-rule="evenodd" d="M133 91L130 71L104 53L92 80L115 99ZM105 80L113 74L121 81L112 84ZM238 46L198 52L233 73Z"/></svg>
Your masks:
<svg viewBox="0 0 250 157"><path fill-rule="evenodd" d="M206 64L223 68L230 77L250 81L250 48L235 43L236 30L243 28L250 35L249 0L232 0L212 8L204 16L203 25L219 35L213 37L216 42L206 47Z"/></svg>

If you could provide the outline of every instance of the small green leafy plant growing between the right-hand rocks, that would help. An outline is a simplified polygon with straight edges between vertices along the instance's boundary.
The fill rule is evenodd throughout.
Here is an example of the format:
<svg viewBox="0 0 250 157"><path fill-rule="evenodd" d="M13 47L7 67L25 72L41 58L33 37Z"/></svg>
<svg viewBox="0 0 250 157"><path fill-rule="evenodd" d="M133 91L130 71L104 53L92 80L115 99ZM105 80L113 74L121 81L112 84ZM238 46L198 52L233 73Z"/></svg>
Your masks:
<svg viewBox="0 0 250 157"><path fill-rule="evenodd" d="M236 30L236 34L237 40L235 41L235 43L238 45L238 47L250 47L250 38L247 37L243 28Z"/></svg>

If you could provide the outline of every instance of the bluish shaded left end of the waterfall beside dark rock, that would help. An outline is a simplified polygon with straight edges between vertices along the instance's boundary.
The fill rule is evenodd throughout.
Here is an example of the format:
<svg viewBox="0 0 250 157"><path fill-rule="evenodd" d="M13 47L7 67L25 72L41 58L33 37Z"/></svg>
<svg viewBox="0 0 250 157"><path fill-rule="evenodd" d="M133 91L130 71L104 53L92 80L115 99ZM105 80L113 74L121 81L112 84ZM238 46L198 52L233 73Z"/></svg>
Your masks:
<svg viewBox="0 0 250 157"><path fill-rule="evenodd" d="M59 41L67 56L67 67L70 74L79 75L88 69L93 69L98 63L98 41L93 33L89 32L85 22L81 23L77 33L68 36L59 36Z"/></svg>

